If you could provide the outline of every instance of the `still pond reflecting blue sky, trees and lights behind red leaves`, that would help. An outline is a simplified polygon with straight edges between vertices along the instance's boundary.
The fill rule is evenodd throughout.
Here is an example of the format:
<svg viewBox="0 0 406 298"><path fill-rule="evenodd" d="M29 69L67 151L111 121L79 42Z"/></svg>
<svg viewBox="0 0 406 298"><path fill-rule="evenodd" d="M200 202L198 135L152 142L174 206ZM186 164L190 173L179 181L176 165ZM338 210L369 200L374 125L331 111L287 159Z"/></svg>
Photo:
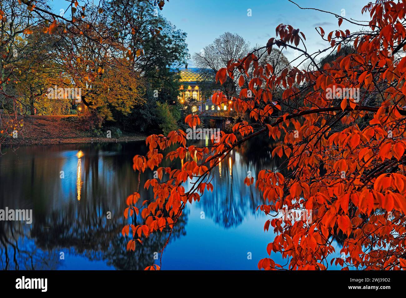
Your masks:
<svg viewBox="0 0 406 298"><path fill-rule="evenodd" d="M2 270L143 270L159 264L167 232L126 251L126 197L137 190L132 169L145 142L2 148L0 209L32 209L32 223L0 221ZM213 193L188 204L162 257L162 270L257 270L274 238L247 172L277 167L272 147L255 141L233 150L214 173ZM179 162L179 161L178 161ZM168 161L166 165L171 165ZM151 197L140 176L140 201ZM187 188L187 185L185 185ZM111 214L111 216L109 216ZM339 251L339 247L336 249ZM272 255L286 264L279 255Z"/></svg>

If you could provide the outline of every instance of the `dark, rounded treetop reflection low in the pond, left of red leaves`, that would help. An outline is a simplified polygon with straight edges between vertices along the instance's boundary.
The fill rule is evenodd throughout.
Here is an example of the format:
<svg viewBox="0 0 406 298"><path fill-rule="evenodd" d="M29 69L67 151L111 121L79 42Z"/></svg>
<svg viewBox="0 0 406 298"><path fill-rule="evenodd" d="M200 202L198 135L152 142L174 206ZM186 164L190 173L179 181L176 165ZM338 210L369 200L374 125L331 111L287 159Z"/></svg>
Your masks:
<svg viewBox="0 0 406 298"><path fill-rule="evenodd" d="M114 210L121 208L123 206L119 202ZM143 270L154 263L153 253L163 247L168 236L166 232L162 235L154 234L143 244L138 244L135 252L127 252L125 247L128 238L121 235L121 229L125 224L121 212L112 219L106 219L104 214L101 216L98 214L98 210L92 205L86 205L80 210L76 208L59 210L40 221L36 219L32 237L35 238L37 247L48 251L69 249L70 253L84 255L90 260L107 261L108 265L116 269ZM114 211L113 214L117 213ZM181 231L184 231L187 220L187 214L185 215L186 217L183 217L176 226L171 239L178 238ZM43 226L52 226L52 229L47 231Z"/></svg>

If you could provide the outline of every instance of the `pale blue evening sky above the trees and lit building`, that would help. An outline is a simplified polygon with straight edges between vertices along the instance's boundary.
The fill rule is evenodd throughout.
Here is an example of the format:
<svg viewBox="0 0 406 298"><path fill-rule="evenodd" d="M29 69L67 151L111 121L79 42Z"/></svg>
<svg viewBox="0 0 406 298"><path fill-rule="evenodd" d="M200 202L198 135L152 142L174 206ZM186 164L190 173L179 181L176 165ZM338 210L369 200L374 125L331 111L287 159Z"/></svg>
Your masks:
<svg viewBox="0 0 406 298"><path fill-rule="evenodd" d="M96 3L98 0L94 0ZM50 0L55 11L66 8L66 1ZM368 0L297 0L302 7L312 7L341 15L345 10L348 19L368 20L361 15L361 9ZM248 16L251 9L251 16ZM290 24L299 28L307 38L309 52L326 47L316 33L315 27L322 26L326 34L338 28L337 19L326 13L299 9L288 0L170 0L165 3L162 15L177 28L188 33L187 43L190 54L199 52L205 45L224 32L238 33L251 45L264 45L275 37L275 28L279 24ZM343 21L340 29L351 32L358 27ZM283 51L293 59L294 51ZM189 61L193 66L193 62Z"/></svg>

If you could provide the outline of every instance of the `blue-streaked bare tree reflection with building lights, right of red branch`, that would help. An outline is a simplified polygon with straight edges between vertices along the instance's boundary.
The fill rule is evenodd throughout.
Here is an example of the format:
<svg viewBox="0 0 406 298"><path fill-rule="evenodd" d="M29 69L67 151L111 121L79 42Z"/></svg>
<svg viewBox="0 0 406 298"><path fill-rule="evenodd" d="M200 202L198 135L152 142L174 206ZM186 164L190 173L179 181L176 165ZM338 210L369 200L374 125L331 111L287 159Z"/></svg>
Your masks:
<svg viewBox="0 0 406 298"><path fill-rule="evenodd" d="M256 216L255 210L263 199L254 185L246 187L244 179L248 171L255 177L261 169L277 167L272 150L269 139L254 138L233 150L231 160L225 157L213 173L212 195L205 193L202 197L205 214L225 228L240 225L247 214Z"/></svg>

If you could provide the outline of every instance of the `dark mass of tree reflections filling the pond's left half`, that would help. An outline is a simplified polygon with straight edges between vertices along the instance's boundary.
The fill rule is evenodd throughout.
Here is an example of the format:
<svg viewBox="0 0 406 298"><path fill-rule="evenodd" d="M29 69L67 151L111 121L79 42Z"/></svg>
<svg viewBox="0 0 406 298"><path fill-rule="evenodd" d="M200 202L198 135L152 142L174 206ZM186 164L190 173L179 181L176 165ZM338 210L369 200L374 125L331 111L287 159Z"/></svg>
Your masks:
<svg viewBox="0 0 406 298"><path fill-rule="evenodd" d="M145 150L144 144L137 145L138 152ZM75 188L78 148L83 152L80 202ZM0 160L1 167L15 165L7 174L0 172L0 178L11 180L9 173L15 172L13 178L20 183L18 189L12 181L4 184L4 188L2 185L0 208L32 208L27 206L29 201L35 207L32 225L0 221L0 268L56 269L63 262L69 262L67 252L106 261L117 269L144 269L154 263L153 253L162 249L167 232L138 244L135 253L126 251L128 238L121 235L125 225L125 198L138 187L132 170L134 144L36 146L32 149L35 158L27 147L18 152L20 157L7 154ZM46 156L41 154L48 149ZM71 172L69 167L73 167ZM65 170L65 180L59 178L60 170ZM141 184L152 175L151 172L143 174ZM63 189L64 183L69 186L68 193ZM142 187L140 194L145 198L151 195ZM108 211L111 219L107 219ZM187 213L179 220L171 239L185 234ZM59 259L61 251L65 252L65 261Z"/></svg>

